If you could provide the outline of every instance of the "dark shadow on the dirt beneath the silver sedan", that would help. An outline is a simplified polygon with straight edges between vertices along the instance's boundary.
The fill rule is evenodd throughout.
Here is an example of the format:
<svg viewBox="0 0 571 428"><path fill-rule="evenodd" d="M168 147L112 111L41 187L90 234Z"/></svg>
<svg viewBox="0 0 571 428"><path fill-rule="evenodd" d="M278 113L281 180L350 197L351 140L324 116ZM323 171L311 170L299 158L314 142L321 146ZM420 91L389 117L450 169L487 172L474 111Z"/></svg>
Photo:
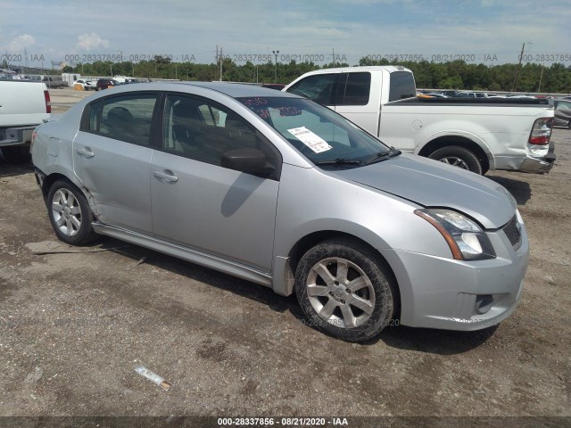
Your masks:
<svg viewBox="0 0 571 428"><path fill-rule="evenodd" d="M132 259L133 264L128 270L131 268L136 269L138 264L141 263L165 269L171 273L186 276L191 280L216 287L224 292L230 292L240 297L254 300L276 312L283 313L288 311L297 321L304 325L304 328L313 328L307 325L302 309L294 295L288 297L280 296L268 287L109 237L102 237L97 244L97 248L108 249ZM385 328L376 338L363 342L360 346L372 346L382 342L386 346L400 350L454 355L479 347L492 336L496 328L497 325L477 332L454 332L411 328L403 325L390 326ZM317 329L314 330L314 333L323 334Z"/></svg>

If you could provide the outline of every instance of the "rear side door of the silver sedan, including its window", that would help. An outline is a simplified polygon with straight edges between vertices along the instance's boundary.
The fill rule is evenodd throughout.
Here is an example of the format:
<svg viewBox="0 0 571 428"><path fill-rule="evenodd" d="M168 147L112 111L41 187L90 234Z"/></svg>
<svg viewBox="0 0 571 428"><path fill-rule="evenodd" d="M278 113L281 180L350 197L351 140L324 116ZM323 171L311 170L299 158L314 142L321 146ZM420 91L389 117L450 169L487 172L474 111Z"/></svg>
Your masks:
<svg viewBox="0 0 571 428"><path fill-rule="evenodd" d="M88 104L73 167L99 221L151 234L151 128L157 95L112 95Z"/></svg>

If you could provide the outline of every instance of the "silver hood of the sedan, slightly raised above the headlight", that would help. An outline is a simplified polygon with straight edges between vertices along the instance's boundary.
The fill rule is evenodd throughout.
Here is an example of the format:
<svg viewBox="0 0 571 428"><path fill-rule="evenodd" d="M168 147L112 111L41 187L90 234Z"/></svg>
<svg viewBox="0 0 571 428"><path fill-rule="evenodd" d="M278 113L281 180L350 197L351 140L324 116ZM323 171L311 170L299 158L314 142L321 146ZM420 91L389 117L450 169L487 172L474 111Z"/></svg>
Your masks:
<svg viewBox="0 0 571 428"><path fill-rule="evenodd" d="M517 208L516 201L502 185L412 154L403 153L387 161L333 174L424 207L461 211L486 229L504 226Z"/></svg>

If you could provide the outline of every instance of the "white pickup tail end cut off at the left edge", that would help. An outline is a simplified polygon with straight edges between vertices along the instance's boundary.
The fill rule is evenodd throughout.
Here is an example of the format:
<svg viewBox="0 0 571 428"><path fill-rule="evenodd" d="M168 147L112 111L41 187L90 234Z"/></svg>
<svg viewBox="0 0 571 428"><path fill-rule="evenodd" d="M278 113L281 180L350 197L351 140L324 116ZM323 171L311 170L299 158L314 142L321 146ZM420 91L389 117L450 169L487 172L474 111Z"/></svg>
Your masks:
<svg viewBox="0 0 571 428"><path fill-rule="evenodd" d="M51 113L50 94L44 83L0 80L0 149L6 161L29 160L32 133Z"/></svg>

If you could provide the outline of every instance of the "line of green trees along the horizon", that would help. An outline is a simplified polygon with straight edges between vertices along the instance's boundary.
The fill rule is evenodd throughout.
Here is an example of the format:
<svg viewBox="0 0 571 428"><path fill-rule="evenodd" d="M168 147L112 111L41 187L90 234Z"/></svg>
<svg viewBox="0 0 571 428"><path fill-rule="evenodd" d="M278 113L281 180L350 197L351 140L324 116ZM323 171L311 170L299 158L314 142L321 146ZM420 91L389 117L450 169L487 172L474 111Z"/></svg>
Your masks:
<svg viewBox="0 0 571 428"><path fill-rule="evenodd" d="M361 58L360 66L401 65L414 72L419 88L487 90L497 92L542 92L571 93L571 66L561 63L543 66L528 62L525 64L501 64L486 66L464 61L453 62L388 62ZM331 67L346 67L347 63L329 63L319 66L314 62L266 62L238 65L229 58L221 64L221 79L247 83L290 83L310 70ZM64 72L80 73L84 76L125 75L137 78L171 78L180 80L220 80L220 64L197 64L194 62L172 62L169 57L157 56L151 61L141 62L93 62L67 66ZM514 89L515 84L515 89Z"/></svg>

